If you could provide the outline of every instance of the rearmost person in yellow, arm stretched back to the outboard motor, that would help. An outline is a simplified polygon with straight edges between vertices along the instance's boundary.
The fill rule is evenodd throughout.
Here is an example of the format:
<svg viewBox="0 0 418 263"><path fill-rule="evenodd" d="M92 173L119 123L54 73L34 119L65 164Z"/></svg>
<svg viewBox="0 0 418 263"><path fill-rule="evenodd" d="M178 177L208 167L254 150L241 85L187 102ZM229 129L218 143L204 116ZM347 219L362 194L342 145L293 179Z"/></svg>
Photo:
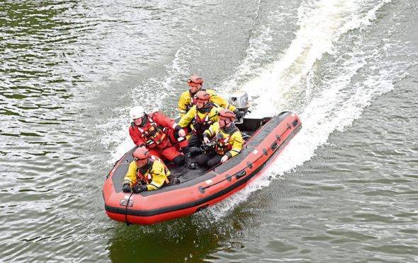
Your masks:
<svg viewBox="0 0 418 263"><path fill-rule="evenodd" d="M202 88L203 78L200 76L190 76L190 78L187 80L187 83L190 89L181 93L179 100L179 111L181 117L186 115L186 113L191 109L191 107L193 107L193 105L196 105L196 93L198 93L200 90L206 91L210 95L210 101L212 103L215 103L225 109L232 110L238 119L244 115L244 112L240 112L234 105L227 103L227 100L220 98L220 96L218 96L214 90L206 90L205 88Z"/></svg>

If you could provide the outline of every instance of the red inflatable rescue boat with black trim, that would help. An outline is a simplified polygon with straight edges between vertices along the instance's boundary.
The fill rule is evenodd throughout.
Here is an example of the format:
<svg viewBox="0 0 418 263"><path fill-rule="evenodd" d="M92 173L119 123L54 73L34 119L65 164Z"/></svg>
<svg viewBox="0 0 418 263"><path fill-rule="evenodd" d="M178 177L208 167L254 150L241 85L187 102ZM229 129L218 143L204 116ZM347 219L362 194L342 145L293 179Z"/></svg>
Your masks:
<svg viewBox="0 0 418 263"><path fill-rule="evenodd" d="M137 147L132 148L115 163L103 186L108 216L128 225L149 225L205 209L260 175L302 128L299 117L292 112L262 119L244 118L236 126L244 139L237 156L210 170L167 165L180 183L138 194L122 192L123 178Z"/></svg>

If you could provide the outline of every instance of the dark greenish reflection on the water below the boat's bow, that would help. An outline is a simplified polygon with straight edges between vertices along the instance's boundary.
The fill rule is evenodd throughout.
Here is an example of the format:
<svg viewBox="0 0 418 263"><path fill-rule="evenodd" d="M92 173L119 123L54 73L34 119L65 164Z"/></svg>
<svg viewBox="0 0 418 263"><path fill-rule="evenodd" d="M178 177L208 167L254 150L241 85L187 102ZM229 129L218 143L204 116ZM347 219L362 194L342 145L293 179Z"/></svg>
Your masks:
<svg viewBox="0 0 418 263"><path fill-rule="evenodd" d="M200 262L220 257L215 252L233 253L244 248L241 242L230 240L248 232L249 213L237 213L210 222L205 215L189 216L155 226L117 226L113 229L106 250L113 262ZM254 222L253 222L254 223ZM235 257L239 259L239 257Z"/></svg>

